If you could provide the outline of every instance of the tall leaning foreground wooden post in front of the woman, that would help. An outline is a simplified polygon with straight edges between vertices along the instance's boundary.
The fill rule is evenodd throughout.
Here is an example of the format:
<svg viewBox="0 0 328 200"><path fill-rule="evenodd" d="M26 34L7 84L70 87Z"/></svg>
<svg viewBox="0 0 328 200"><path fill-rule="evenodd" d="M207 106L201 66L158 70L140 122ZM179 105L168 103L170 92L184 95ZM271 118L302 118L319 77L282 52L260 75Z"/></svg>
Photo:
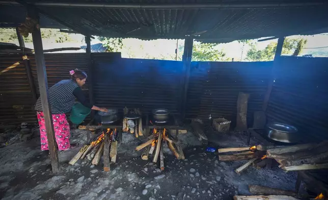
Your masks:
<svg viewBox="0 0 328 200"><path fill-rule="evenodd" d="M34 13L29 12L29 15L30 17L33 17L35 19L39 19L38 13L36 12ZM37 27L38 26L34 26L32 38L33 38L33 45L34 45L34 52L35 52L35 61L37 66L42 110L44 114L45 129L47 132L48 146L50 152L51 167L52 167L52 171L55 173L59 171L58 147L57 147L56 139L54 137L51 108L49 104L48 81L47 81L47 72L45 68L45 61L43 55L41 32L40 32L40 28Z"/></svg>

